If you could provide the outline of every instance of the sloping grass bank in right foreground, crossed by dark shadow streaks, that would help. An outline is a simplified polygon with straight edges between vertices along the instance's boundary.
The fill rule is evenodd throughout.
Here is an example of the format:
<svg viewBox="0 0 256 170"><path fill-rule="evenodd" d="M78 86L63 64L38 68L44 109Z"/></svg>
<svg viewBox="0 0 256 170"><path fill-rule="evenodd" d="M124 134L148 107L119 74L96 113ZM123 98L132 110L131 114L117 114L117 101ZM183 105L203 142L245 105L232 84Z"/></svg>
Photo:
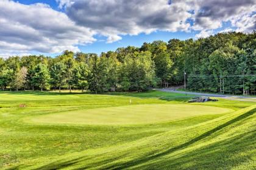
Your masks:
<svg viewBox="0 0 256 170"><path fill-rule="evenodd" d="M65 155L37 169L254 169L256 106L115 147Z"/></svg>

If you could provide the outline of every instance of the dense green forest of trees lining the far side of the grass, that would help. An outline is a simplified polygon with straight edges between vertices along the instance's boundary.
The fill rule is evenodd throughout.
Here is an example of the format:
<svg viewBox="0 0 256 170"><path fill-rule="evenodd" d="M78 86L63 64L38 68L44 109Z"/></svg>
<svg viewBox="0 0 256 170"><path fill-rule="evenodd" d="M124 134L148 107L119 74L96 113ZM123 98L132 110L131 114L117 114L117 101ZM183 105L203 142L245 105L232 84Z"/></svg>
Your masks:
<svg viewBox="0 0 256 170"><path fill-rule="evenodd" d="M256 90L256 32L144 42L114 52L0 58L2 90L142 91L184 84L225 94Z"/></svg>

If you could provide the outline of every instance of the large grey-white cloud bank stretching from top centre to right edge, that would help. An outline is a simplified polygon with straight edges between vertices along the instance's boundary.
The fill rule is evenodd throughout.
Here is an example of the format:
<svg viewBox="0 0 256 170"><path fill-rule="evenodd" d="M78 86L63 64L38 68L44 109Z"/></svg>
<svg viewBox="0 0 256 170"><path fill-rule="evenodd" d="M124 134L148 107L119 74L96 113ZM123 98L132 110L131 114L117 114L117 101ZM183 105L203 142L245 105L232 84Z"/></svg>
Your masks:
<svg viewBox="0 0 256 170"><path fill-rule="evenodd" d="M252 13L256 0L57 0L69 18L78 25L90 27L107 42L118 41L121 35L138 35L155 30L168 32L202 31L197 35L207 36L212 30L222 27L223 22L231 21L239 30L252 30L255 22ZM171 2L171 3L168 3ZM191 13L193 11L193 13ZM241 16L249 16L247 19ZM194 21L193 25L187 19ZM249 22L251 21L251 22ZM247 23L246 28L244 23ZM253 24L253 25L252 25Z"/></svg>

